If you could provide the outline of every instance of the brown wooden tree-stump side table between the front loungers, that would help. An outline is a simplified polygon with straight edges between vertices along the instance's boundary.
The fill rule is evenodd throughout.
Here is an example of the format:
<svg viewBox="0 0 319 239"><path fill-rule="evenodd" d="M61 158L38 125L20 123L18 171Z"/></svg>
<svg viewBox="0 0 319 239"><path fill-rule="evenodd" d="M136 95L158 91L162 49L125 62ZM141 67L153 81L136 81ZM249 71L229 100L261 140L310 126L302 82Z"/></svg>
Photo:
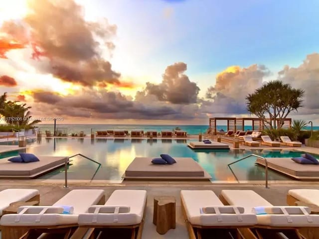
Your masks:
<svg viewBox="0 0 319 239"><path fill-rule="evenodd" d="M153 223L159 234L176 228L176 199L172 196L154 197Z"/></svg>

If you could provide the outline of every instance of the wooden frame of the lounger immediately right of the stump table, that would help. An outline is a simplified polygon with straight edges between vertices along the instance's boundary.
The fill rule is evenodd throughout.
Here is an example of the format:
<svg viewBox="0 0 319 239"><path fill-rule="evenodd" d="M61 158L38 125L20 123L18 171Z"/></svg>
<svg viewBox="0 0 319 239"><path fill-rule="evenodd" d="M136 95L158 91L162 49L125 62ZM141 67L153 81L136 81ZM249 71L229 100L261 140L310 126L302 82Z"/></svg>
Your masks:
<svg viewBox="0 0 319 239"><path fill-rule="evenodd" d="M253 234L250 234L251 231L249 231L249 228L247 226L215 227L215 226L192 225L188 221L184 202L183 202L183 200L180 200L180 201L181 201L183 218L184 218L184 222L186 224L189 239L202 239L202 232L203 232L203 230L207 230L207 229L211 229L211 230L215 229L215 230L220 230L220 231L231 232L234 239L258 239ZM238 229L243 229L243 230L238 230Z"/></svg>

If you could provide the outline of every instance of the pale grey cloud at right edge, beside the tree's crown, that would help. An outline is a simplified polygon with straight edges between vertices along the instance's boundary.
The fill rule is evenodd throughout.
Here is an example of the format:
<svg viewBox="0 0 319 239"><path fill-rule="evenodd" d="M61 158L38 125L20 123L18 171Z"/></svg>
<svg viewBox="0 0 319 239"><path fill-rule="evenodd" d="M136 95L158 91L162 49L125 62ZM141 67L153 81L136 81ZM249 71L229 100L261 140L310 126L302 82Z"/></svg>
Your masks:
<svg viewBox="0 0 319 239"><path fill-rule="evenodd" d="M289 83L294 88L305 90L304 114L319 114L319 54L310 54L299 67L285 66L279 73L279 80Z"/></svg>

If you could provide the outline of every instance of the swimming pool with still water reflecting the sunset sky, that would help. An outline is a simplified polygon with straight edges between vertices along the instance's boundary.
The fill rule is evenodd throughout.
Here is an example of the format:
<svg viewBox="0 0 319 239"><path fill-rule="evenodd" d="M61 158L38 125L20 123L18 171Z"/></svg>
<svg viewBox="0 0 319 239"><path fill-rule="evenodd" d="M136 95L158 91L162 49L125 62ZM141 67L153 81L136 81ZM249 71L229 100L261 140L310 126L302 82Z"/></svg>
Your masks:
<svg viewBox="0 0 319 239"><path fill-rule="evenodd" d="M29 144L28 153L47 156L71 156L81 153L102 164L82 157L74 157L68 169L68 178L73 180L121 180L128 165L135 157L158 157L168 153L173 157L191 157L211 176L212 180L264 180L265 169L254 164L251 157L227 166L235 160L255 153L263 157L295 157L303 152L295 150L192 150L185 139L113 139L113 138L42 138ZM23 150L21 150L23 151ZM17 155L18 151L2 153L0 158ZM98 170L97 170L98 169ZM40 178L64 179L64 168L54 170ZM269 170L269 180L291 180Z"/></svg>

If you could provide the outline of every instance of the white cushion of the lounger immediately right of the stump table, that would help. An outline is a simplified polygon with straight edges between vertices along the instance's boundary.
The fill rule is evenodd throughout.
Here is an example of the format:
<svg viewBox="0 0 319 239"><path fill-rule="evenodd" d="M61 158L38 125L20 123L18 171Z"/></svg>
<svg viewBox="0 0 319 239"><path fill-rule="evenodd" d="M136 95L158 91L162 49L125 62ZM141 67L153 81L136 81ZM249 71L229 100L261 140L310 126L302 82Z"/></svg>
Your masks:
<svg viewBox="0 0 319 239"><path fill-rule="evenodd" d="M243 209L224 206L215 193L210 190L181 190L180 198L187 219L192 225L225 227L252 226L257 223L256 215L252 213L241 214ZM203 213L203 207L208 209L215 207L219 212L216 213L214 210L215 213ZM229 208L232 208L233 212L229 211ZM234 208L238 210L237 214L234 213Z"/></svg>

